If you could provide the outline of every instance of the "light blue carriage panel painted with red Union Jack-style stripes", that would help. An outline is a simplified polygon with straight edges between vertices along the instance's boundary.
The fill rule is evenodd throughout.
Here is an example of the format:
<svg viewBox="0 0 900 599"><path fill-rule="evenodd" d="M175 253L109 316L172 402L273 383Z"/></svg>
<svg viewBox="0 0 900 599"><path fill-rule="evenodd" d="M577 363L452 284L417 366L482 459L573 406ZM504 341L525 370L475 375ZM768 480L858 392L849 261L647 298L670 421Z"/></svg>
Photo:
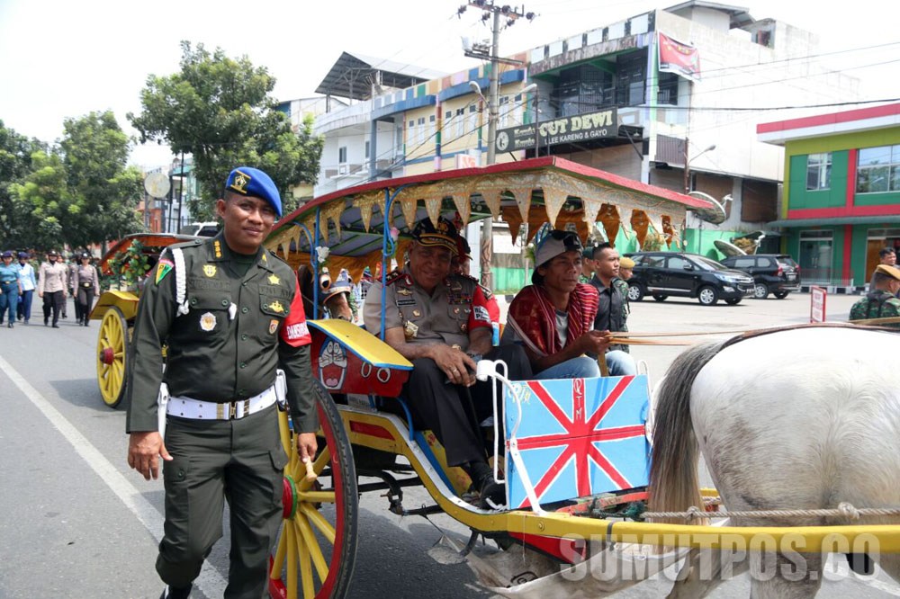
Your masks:
<svg viewBox="0 0 900 599"><path fill-rule="evenodd" d="M518 451L539 503L647 485L645 375L513 384L522 396ZM509 390L505 410L507 505L527 507L522 474L509 453L518 416Z"/></svg>

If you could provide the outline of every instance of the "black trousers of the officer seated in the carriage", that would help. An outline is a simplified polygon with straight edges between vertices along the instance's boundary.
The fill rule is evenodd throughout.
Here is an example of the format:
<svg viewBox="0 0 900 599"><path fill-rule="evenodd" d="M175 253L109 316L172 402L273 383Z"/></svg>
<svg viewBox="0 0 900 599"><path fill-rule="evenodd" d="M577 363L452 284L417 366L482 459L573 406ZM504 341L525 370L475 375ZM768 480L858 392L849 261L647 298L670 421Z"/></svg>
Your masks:
<svg viewBox="0 0 900 599"><path fill-rule="evenodd" d="M506 362L510 380L531 378L531 367L519 345L500 345L484 358ZM410 380L403 387L403 397L416 425L434 432L444 445L448 465L484 461L487 453L478 423L493 412L491 383L479 381L469 389L445 383L446 374L430 358L413 360L412 366ZM502 398L502 394L499 397Z"/></svg>

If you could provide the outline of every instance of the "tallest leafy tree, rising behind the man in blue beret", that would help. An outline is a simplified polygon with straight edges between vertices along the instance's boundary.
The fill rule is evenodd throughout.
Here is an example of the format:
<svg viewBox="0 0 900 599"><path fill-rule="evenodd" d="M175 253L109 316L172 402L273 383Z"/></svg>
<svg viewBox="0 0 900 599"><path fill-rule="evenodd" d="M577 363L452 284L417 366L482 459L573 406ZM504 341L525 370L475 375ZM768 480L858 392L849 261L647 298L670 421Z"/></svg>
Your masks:
<svg viewBox="0 0 900 599"><path fill-rule="evenodd" d="M323 141L311 121L294 133L269 94L275 77L245 56L221 49L210 54L182 42L181 72L148 76L141 92L143 111L129 114L142 142L166 141L175 154L193 155L200 197L189 208L198 220L211 220L213 200L232 168L256 166L272 176L285 195L298 183L315 183Z"/></svg>

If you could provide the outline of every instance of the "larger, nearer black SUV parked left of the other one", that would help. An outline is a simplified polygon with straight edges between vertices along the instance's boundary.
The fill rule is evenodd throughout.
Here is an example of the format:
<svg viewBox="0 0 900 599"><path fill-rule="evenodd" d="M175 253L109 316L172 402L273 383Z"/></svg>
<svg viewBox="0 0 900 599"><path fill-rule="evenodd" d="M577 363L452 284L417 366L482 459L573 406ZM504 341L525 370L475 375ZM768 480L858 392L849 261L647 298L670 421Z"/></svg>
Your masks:
<svg viewBox="0 0 900 599"><path fill-rule="evenodd" d="M697 298L704 306L719 299L733 305L753 294L753 280L698 254L680 252L638 252L626 254L635 261L628 280L628 299L640 301L645 295L662 301L669 296Z"/></svg>

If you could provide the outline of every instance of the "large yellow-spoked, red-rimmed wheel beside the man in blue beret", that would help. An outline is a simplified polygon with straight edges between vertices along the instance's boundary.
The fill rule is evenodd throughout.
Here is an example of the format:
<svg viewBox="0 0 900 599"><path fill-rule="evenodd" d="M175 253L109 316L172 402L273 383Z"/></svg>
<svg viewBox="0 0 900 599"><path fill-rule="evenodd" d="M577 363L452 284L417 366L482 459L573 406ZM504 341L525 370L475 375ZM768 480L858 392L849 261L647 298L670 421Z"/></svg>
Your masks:
<svg viewBox="0 0 900 599"><path fill-rule="evenodd" d="M326 599L347 595L356 559L359 496L356 468L338 407L322 389L318 402L319 453L306 469L280 414L282 443L291 456L284 468L284 521L269 570L269 594L277 599Z"/></svg>

